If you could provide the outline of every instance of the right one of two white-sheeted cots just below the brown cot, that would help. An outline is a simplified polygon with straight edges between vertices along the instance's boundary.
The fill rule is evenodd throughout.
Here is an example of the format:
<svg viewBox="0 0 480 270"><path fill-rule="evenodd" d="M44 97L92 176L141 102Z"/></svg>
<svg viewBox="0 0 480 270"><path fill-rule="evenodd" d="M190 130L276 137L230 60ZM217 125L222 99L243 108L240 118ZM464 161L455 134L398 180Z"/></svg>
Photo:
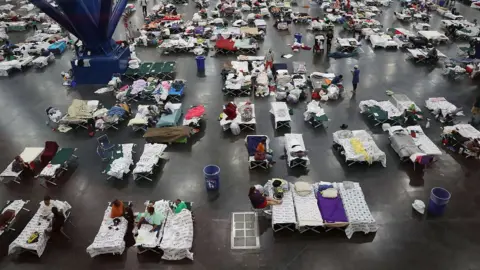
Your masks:
<svg viewBox="0 0 480 270"><path fill-rule="evenodd" d="M164 152L166 148L167 145L165 144L145 144L142 156L133 169L133 179L153 181L149 175L153 174L153 169L158 166L159 160L165 158Z"/></svg>

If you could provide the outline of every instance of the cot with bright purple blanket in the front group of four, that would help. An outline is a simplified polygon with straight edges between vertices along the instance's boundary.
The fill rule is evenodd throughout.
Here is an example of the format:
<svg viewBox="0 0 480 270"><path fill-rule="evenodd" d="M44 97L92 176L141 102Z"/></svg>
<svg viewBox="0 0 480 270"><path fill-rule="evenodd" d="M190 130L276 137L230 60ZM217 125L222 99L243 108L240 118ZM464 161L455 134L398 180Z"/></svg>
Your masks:
<svg viewBox="0 0 480 270"><path fill-rule="evenodd" d="M320 182L315 184L315 191L317 195L317 206L320 212L322 213L324 226L326 231L333 229L344 229L348 226L348 218L345 213L345 208L343 207L342 196L340 191L335 188L338 192L336 198L326 198L323 196L322 191L327 188L334 188L332 183L329 182Z"/></svg>

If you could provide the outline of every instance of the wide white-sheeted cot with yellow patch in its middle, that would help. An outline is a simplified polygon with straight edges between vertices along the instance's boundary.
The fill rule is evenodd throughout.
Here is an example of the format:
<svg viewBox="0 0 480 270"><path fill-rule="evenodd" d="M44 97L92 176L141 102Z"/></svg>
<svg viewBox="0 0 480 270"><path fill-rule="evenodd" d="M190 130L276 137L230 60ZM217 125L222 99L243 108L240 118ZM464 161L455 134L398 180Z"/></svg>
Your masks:
<svg viewBox="0 0 480 270"><path fill-rule="evenodd" d="M355 163L380 162L387 166L387 157L365 130L339 130L333 133L334 147L345 156L348 166Z"/></svg>

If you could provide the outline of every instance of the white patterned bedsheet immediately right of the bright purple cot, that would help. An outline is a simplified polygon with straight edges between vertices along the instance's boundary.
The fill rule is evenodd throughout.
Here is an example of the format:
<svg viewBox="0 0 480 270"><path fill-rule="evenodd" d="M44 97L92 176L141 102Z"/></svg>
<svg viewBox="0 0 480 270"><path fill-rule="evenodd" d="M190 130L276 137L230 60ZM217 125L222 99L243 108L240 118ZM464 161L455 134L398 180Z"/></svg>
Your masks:
<svg viewBox="0 0 480 270"><path fill-rule="evenodd" d="M355 232L367 234L378 230L377 222L368 209L362 188L358 183L352 184L353 188L346 188L344 183L333 183L333 186L340 191L348 217L349 225L345 229L348 239L352 238Z"/></svg>

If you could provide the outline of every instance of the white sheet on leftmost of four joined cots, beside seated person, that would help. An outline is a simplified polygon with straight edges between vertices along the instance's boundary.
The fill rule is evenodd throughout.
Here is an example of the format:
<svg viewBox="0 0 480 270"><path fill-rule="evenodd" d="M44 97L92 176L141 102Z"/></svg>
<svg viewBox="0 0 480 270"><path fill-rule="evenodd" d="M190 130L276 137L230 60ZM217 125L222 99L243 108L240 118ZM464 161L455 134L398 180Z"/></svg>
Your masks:
<svg viewBox="0 0 480 270"><path fill-rule="evenodd" d="M272 181L268 180L265 184L265 190L268 191L270 196L273 196ZM289 183L289 189L283 193L282 203L272 205L272 227L275 224L297 224L292 194L293 188L293 185Z"/></svg>

